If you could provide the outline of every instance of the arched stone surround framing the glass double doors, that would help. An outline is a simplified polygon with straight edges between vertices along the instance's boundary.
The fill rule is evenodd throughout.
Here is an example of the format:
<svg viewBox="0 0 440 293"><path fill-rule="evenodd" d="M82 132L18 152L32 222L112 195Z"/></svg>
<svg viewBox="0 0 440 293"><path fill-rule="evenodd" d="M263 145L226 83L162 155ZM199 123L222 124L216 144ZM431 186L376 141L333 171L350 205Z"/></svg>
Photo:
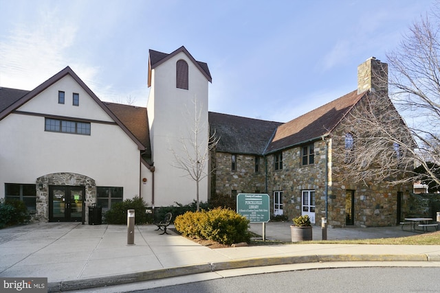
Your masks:
<svg viewBox="0 0 440 293"><path fill-rule="evenodd" d="M81 174L61 172L41 176L36 179L36 214L34 220L48 222L50 219L50 187L84 187L85 213L83 217L88 222L89 206L96 202L95 180Z"/></svg>

